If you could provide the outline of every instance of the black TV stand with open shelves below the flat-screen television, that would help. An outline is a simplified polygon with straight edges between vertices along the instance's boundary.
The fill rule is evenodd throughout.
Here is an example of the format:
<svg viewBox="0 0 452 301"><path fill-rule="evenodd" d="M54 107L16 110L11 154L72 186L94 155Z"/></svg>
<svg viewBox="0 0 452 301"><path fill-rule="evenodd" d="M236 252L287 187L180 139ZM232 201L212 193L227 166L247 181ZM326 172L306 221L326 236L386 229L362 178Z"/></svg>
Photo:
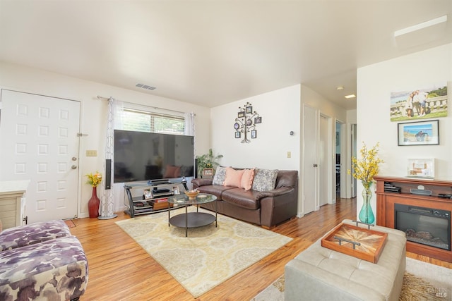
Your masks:
<svg viewBox="0 0 452 301"><path fill-rule="evenodd" d="M186 180L179 182L126 183L124 185L124 204L126 205L124 212L131 217L135 217L136 215L167 211L168 207L154 209L153 201L167 199L167 197L174 194L184 193L186 190L188 190Z"/></svg>

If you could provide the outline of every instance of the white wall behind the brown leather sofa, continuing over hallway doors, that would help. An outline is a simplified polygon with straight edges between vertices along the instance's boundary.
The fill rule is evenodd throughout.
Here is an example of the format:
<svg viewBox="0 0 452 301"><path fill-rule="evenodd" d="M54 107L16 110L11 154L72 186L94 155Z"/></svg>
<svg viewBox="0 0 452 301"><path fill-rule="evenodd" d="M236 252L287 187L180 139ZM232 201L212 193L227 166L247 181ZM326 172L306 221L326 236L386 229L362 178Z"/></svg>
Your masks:
<svg viewBox="0 0 452 301"><path fill-rule="evenodd" d="M262 116L262 123L256 126L257 139L241 143L234 137L235 118L239 107L250 102L253 109ZM346 121L346 112L321 97L304 85L294 85L280 90L256 95L237 102L211 109L212 148L215 154L224 158L220 164L235 167L274 168L299 171L299 216L302 212L302 104L309 104L327 116ZM331 133L335 132L334 123ZM294 131L294 135L290 135ZM335 139L334 135L331 136ZM333 143L333 142L332 142ZM334 144L332 144L334 145ZM331 150L333 152L333 149ZM291 158L287 158L291 152ZM333 170L331 178L333 178ZM333 189L333 188L332 188Z"/></svg>

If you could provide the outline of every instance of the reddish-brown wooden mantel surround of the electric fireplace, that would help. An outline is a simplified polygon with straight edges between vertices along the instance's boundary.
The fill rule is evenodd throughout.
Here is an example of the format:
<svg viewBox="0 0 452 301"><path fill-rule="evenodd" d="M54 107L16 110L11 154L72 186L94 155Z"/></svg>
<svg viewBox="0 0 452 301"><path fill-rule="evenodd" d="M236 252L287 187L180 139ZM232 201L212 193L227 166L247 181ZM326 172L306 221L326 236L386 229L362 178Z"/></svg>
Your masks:
<svg viewBox="0 0 452 301"><path fill-rule="evenodd" d="M394 204L427 207L452 212L452 199L438 196L439 194L452 194L452 181L450 180L426 180L389 176L375 176L374 179L376 180L376 224L379 226L388 228L395 227ZM400 193L385 192L385 182L390 182L400 187ZM425 190L432 190L432 195L412 194L411 189L417 189L419 185L424 186ZM452 250L441 250L437 247L407 241L407 251L445 262L452 262Z"/></svg>

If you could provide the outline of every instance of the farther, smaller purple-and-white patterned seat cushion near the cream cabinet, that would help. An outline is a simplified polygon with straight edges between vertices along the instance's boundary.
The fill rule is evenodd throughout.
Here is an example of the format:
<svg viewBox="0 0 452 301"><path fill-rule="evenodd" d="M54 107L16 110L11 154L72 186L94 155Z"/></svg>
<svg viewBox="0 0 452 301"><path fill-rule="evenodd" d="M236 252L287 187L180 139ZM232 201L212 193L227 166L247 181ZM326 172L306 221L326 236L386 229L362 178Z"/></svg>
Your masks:
<svg viewBox="0 0 452 301"><path fill-rule="evenodd" d="M71 235L64 221L42 221L30 225L8 228L1 232L0 250L11 250Z"/></svg>

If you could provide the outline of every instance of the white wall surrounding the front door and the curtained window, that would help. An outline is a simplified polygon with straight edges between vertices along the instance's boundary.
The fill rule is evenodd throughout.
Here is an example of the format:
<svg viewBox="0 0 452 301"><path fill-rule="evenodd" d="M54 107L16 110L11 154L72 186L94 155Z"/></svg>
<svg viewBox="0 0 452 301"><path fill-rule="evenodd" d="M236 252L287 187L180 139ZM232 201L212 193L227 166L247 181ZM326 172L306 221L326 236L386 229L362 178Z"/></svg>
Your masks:
<svg viewBox="0 0 452 301"><path fill-rule="evenodd" d="M119 87L103 85L97 82L79 80L44 70L25 68L9 63L0 62L0 88L30 92L52 97L73 99L81 102L81 133L88 136L81 138L79 180L80 208L78 217L88 216L88 200L91 196L90 185L84 185L87 173L102 171L105 161L105 131L107 117L107 102L97 99L114 97L123 102L155 106L162 109L172 109L182 112L196 113L196 152L207 152L210 141L210 128L205 126L210 122L210 109L195 106L174 99L156 97L151 94L126 90ZM3 147L3 146L2 146ZM85 156L87 149L97 150L97 157ZM122 185L114 185L114 211L124 209L124 189Z"/></svg>

